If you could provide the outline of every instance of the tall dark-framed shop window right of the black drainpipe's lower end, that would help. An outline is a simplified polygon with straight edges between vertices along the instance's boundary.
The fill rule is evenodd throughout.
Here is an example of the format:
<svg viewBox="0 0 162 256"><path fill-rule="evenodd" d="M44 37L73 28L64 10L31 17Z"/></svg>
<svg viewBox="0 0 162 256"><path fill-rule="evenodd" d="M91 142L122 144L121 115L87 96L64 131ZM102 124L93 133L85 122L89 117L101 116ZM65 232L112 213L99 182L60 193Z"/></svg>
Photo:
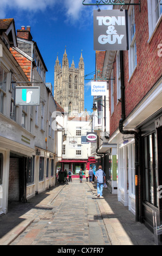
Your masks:
<svg viewBox="0 0 162 256"><path fill-rule="evenodd" d="M157 139L155 132L144 138L145 200L154 206L158 206L158 169L156 143Z"/></svg>

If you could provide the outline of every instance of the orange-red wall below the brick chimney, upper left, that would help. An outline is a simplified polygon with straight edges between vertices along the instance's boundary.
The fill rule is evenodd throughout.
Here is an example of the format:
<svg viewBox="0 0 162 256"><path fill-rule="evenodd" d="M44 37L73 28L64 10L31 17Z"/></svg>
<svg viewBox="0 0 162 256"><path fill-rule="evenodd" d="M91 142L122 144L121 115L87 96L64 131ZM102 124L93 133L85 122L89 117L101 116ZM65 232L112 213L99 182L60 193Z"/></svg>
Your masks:
<svg viewBox="0 0 162 256"><path fill-rule="evenodd" d="M22 70L24 71L25 75L28 77L30 81L31 61L12 48L10 48L10 52L17 60L18 64L21 66Z"/></svg>

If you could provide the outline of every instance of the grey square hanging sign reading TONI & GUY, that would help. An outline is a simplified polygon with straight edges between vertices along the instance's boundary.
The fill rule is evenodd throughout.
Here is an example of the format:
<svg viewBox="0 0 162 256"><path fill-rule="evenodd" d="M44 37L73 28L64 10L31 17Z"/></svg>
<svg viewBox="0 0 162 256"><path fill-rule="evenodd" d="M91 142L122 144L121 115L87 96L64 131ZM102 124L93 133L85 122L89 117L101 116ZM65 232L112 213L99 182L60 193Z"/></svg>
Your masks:
<svg viewBox="0 0 162 256"><path fill-rule="evenodd" d="M127 10L94 10L94 50L128 50Z"/></svg>

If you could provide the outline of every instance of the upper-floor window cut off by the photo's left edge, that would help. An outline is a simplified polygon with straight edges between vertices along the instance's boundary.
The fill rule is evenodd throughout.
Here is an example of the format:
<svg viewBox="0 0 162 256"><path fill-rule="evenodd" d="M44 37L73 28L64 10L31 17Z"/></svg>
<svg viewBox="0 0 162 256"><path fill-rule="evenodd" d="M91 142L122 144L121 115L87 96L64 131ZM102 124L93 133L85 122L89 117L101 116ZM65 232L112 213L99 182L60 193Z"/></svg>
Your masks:
<svg viewBox="0 0 162 256"><path fill-rule="evenodd" d="M7 71L0 66L0 112L4 113L4 97L7 90Z"/></svg>

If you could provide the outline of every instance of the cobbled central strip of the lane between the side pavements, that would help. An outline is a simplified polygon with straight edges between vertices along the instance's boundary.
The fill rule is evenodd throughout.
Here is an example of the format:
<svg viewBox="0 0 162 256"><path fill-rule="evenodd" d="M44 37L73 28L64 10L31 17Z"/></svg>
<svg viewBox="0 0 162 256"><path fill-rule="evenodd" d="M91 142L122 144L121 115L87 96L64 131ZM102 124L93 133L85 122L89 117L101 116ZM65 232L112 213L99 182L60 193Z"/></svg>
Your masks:
<svg viewBox="0 0 162 256"><path fill-rule="evenodd" d="M97 200L86 182L69 182L11 245L110 245Z"/></svg>

